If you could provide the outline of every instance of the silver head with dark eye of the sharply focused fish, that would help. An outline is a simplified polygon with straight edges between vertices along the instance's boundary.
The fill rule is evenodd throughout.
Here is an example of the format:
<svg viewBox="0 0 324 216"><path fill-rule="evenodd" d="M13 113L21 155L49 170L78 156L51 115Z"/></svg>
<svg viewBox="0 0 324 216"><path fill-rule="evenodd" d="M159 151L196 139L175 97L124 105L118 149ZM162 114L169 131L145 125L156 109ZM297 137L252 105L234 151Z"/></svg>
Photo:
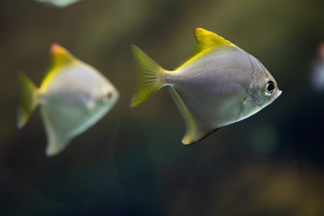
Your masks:
<svg viewBox="0 0 324 216"><path fill-rule="evenodd" d="M251 98L254 104L262 109L271 104L278 98L282 91L279 90L278 84L269 71L260 63L259 67L255 67L254 77L252 81Z"/></svg>

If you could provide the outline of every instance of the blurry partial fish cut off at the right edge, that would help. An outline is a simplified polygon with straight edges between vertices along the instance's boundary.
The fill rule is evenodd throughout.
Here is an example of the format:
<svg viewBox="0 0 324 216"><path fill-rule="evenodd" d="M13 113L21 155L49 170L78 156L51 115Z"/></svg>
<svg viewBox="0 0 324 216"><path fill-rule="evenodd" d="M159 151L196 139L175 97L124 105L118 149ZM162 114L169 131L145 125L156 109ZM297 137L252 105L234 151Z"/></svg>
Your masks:
<svg viewBox="0 0 324 216"><path fill-rule="evenodd" d="M318 46L318 56L313 62L312 84L317 92L324 91L324 41Z"/></svg>

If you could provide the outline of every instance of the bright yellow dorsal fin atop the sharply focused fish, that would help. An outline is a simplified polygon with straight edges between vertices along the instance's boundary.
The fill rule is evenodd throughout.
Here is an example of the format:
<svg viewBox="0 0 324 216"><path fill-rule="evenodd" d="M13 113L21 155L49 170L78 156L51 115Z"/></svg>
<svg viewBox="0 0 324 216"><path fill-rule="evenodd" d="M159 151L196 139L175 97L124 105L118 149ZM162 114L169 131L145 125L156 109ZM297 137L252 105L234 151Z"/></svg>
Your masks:
<svg viewBox="0 0 324 216"><path fill-rule="evenodd" d="M224 48L226 46L235 46L233 43L225 40L223 37L215 34L211 31L207 31L203 28L195 28L193 30L194 38L197 41L196 48L190 52L186 57L184 57L181 61L179 61L174 69L180 67L184 63L193 59L194 57L201 56L202 54L219 48Z"/></svg>

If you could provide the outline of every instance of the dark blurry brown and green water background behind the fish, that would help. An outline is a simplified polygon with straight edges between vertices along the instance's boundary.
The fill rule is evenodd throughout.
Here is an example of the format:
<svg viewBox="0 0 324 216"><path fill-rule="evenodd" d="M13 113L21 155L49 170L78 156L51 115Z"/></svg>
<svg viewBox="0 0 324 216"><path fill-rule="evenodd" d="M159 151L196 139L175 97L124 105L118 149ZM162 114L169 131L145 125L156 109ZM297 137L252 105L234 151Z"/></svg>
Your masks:
<svg viewBox="0 0 324 216"><path fill-rule="evenodd" d="M0 216L323 216L324 88L312 82L323 11L322 0L1 0ZM171 70L196 46L195 27L255 56L283 93L182 146L184 120L166 87L129 107L131 44ZM39 86L52 43L98 69L120 98L48 158L39 108L20 130L15 117L18 72Z"/></svg>

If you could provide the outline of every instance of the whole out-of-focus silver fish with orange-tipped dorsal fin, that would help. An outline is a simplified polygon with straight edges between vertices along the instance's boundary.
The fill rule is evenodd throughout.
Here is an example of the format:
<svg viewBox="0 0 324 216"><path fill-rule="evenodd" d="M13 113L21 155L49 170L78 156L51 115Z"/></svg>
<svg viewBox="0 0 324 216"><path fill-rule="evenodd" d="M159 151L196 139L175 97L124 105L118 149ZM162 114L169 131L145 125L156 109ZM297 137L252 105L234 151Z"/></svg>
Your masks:
<svg viewBox="0 0 324 216"><path fill-rule="evenodd" d="M74 57L62 46L50 47L51 63L40 88L18 73L16 123L21 129L40 105L47 135L45 154L62 152L70 141L96 124L117 103L119 92L94 67Z"/></svg>

